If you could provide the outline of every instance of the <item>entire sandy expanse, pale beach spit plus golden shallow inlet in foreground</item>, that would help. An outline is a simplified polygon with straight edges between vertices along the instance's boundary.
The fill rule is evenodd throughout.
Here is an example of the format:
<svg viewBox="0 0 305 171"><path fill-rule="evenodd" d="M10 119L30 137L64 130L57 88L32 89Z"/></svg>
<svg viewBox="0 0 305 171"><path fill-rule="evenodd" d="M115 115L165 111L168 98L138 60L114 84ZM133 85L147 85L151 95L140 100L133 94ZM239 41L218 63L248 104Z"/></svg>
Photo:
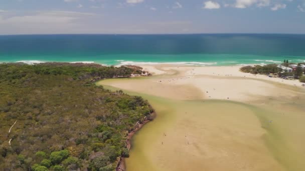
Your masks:
<svg viewBox="0 0 305 171"><path fill-rule="evenodd" d="M240 66L143 65L153 76L97 84L148 99L128 170L299 170L305 87ZM291 133L293 132L293 133Z"/></svg>

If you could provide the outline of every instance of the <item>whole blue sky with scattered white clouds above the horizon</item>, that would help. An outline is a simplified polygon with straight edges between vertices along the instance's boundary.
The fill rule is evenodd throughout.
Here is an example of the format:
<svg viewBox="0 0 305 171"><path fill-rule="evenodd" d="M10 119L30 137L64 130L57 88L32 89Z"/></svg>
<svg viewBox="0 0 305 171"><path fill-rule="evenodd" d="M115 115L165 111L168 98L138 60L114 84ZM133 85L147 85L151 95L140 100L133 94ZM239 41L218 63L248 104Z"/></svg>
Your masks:
<svg viewBox="0 0 305 171"><path fill-rule="evenodd" d="M0 0L0 34L305 33L305 0Z"/></svg>

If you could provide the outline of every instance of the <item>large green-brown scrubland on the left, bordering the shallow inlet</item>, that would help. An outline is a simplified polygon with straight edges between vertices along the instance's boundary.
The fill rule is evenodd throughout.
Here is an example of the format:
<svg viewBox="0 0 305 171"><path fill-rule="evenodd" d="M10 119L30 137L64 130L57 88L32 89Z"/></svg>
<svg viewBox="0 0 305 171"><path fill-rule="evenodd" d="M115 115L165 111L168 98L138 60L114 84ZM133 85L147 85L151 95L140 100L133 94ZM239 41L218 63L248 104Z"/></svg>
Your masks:
<svg viewBox="0 0 305 171"><path fill-rule="evenodd" d="M141 70L83 63L0 64L0 168L115 170L126 135L154 112L93 80Z"/></svg>

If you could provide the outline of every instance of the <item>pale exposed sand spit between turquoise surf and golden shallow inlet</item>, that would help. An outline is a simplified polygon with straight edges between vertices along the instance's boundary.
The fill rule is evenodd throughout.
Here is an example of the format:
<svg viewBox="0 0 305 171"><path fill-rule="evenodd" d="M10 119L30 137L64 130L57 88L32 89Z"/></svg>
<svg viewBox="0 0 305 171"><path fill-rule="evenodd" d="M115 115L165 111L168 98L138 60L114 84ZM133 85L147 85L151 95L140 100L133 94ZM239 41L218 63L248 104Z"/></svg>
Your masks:
<svg viewBox="0 0 305 171"><path fill-rule="evenodd" d="M266 96L293 97L291 90L305 89L298 80L244 73L239 71L241 66L167 64L141 67L155 76L119 84L113 81L111 85L127 90L136 88L137 92L173 99L226 99L241 102L259 100Z"/></svg>

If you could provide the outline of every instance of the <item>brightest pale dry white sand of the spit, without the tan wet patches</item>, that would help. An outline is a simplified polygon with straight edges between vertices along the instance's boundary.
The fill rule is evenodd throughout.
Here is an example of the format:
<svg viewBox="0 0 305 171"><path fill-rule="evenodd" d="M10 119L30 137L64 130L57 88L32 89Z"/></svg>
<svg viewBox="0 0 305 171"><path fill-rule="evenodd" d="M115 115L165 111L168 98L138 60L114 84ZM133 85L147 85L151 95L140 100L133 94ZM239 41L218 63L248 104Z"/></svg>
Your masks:
<svg viewBox="0 0 305 171"><path fill-rule="evenodd" d="M147 87L154 85L154 89L156 89L156 91L151 89L151 94L165 97L169 97L171 85L194 86L202 91L204 98L206 99L236 101L257 100L266 96L293 96L294 93L292 93L291 90L291 88L293 88L292 86L290 88L275 88L275 82L282 83L282 85L293 85L294 87L303 88L301 86L302 83L298 80L286 80L268 77L266 75L244 73L239 71L241 66L145 65L141 67L146 68L148 71L151 70L154 73L165 74L165 76L161 78L145 80L147 82ZM179 74L167 75L166 73L168 70L177 70ZM160 85L159 88L157 83ZM130 84L130 86L136 85ZM160 88L167 89L168 93L166 95L164 92L161 94L160 92L162 91L160 91Z"/></svg>

